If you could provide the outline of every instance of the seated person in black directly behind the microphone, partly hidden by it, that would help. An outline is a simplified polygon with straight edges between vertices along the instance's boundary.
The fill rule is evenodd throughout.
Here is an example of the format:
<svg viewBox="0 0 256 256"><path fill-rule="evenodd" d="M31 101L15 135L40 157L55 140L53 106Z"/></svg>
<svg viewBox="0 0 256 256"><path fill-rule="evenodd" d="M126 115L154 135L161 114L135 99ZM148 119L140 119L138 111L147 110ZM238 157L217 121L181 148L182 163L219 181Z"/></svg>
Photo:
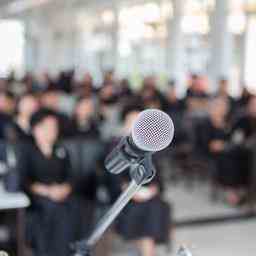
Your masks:
<svg viewBox="0 0 256 256"><path fill-rule="evenodd" d="M136 106L133 109L130 108L129 111L124 110L124 133L130 132L139 110L140 108L136 109ZM129 182L127 173L123 174L122 188L125 188ZM156 255L156 244L166 243L170 238L170 208L161 198L160 177L159 170L157 170L157 176L134 196L118 219L118 232L126 240L135 242L142 256Z"/></svg>

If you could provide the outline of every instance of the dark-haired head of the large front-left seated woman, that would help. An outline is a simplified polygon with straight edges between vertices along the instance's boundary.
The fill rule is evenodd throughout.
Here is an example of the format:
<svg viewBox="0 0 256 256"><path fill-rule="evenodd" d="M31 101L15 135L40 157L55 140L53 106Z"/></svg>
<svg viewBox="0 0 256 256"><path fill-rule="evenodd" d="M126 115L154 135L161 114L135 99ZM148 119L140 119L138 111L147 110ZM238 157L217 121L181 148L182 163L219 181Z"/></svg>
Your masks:
<svg viewBox="0 0 256 256"><path fill-rule="evenodd" d="M37 144L54 145L59 136L58 116L50 109L40 109L32 115L30 128Z"/></svg>

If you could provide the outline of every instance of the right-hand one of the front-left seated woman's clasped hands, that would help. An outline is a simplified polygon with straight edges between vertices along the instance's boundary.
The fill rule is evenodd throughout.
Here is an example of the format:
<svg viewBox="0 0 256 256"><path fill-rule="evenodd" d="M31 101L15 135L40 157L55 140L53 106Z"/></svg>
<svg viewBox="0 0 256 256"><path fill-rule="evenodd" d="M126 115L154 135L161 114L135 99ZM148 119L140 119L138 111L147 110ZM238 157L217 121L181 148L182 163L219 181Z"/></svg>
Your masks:
<svg viewBox="0 0 256 256"><path fill-rule="evenodd" d="M70 195L72 188L69 184L52 185L49 189L49 198L55 202L64 202Z"/></svg>

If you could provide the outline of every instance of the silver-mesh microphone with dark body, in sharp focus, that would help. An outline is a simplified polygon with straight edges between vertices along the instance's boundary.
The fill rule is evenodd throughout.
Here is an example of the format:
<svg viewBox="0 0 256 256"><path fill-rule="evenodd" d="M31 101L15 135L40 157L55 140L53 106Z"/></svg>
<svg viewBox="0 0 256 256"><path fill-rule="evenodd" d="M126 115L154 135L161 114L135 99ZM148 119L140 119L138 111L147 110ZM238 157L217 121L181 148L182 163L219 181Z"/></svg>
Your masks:
<svg viewBox="0 0 256 256"><path fill-rule="evenodd" d="M168 114L158 109L142 111L133 123L129 136L121 139L105 160L106 169L119 174L132 164L168 147L174 125Z"/></svg>

